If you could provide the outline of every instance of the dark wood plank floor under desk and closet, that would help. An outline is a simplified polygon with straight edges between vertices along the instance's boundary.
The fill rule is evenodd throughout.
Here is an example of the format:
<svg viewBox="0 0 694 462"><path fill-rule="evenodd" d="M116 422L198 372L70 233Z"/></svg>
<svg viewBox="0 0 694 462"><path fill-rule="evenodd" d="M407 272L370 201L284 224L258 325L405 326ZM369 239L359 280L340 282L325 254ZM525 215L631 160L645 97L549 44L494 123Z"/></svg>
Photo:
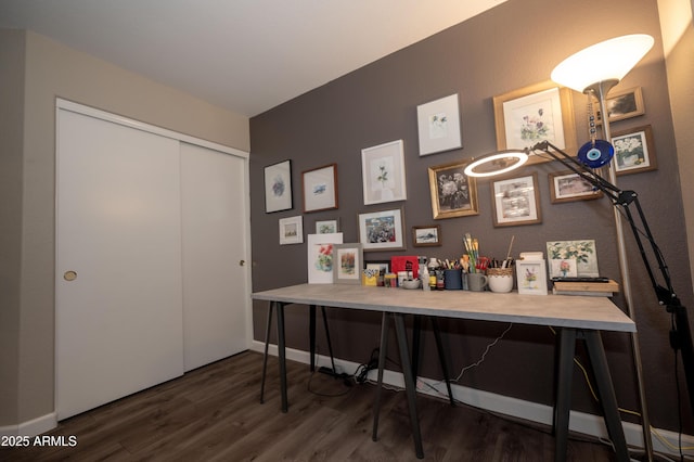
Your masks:
<svg viewBox="0 0 694 462"><path fill-rule="evenodd" d="M374 386L287 362L290 411L280 412L277 358L259 403L262 356L247 351L67 419L47 435L74 447L0 448L2 461L414 461L404 393L384 390L371 440ZM437 461L551 461L550 428L419 398L424 455ZM569 441L568 461L612 461L597 442Z"/></svg>

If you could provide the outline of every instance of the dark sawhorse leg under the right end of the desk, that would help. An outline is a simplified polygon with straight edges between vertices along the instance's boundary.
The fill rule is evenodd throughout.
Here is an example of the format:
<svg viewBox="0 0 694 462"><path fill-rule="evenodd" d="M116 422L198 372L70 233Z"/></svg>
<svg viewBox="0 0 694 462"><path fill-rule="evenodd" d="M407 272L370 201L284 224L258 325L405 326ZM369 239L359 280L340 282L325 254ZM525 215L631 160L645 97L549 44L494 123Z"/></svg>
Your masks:
<svg viewBox="0 0 694 462"><path fill-rule="evenodd" d="M558 376L556 384L556 405L554 407L555 453L554 460L566 460L568 444L568 424L571 410L571 382L574 378L574 355L576 341L582 338L588 348L588 356L596 381L597 395L603 408L605 426L612 440L617 460L628 462L629 450L625 438L617 398L607 368L607 359L603 342L597 331L562 329L560 331Z"/></svg>

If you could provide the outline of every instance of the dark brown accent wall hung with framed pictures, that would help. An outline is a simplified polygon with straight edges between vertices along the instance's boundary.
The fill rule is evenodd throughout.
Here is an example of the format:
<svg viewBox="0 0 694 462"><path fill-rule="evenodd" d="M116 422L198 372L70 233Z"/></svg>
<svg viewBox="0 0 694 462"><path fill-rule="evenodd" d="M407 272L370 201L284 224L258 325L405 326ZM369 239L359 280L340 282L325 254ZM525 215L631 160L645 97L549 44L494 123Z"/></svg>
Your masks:
<svg viewBox="0 0 694 462"><path fill-rule="evenodd" d="M599 13L599 14L596 14ZM669 264L674 286L683 303L693 306L687 242L682 218L678 158L670 113L660 41L658 11L652 0L510 0L489 12L451 27L404 50L364 66L250 119L250 183L253 222L253 281L260 291L307 281L306 244L279 245L278 219L301 215L301 171L336 163L339 209L304 214L305 233L316 220L338 218L345 242L357 242L359 213L402 207L408 248L402 252L367 253L365 259L388 259L391 255L450 258L462 252L461 238L470 232L480 239L484 254L505 255L515 235L515 252L543 251L547 241L594 239L601 273L619 279L613 208L607 201L552 204L548 174L561 166L526 167L518 175L537 172L542 223L494 228L488 181L479 181L480 214L474 217L437 220L442 246L414 248L412 226L435 223L432 218L427 167L496 150L492 97L549 79L564 57L594 42L612 37L646 33L656 44L640 65L615 88L640 86L645 115L613 124L613 131L650 124L655 138L658 169L619 177L619 185L641 194L653 232ZM459 93L463 149L420 157L416 106ZM586 97L574 93L579 145L588 141ZM361 149L404 140L408 200L364 206L361 183ZM266 214L264 167L284 159L293 162L292 210ZM627 229L628 231L628 229ZM645 371L651 423L678 428L673 352L668 343L669 317L657 306L632 239L628 239L632 269L637 323ZM464 294L461 294L464 296ZM490 295L493 296L493 295ZM624 306L624 299L615 301ZM288 309L287 343L308 350L308 310ZM329 310L335 355L365 362L378 344L376 313ZM255 338L262 339L266 305L254 305ZM485 347L505 324L447 321L445 343L452 370L477 361ZM485 362L468 371L460 385L551 405L553 400L554 334L547 328L514 325ZM637 410L635 377L629 338L604 335L620 407ZM326 354L319 337L321 352ZM422 375L441 377L427 332ZM391 349L395 351L395 349ZM579 352L587 361L583 352ZM678 363L680 387L683 372ZM576 374L574 409L599 413L581 374ZM684 398L685 432L694 426ZM633 418L625 414L625 420Z"/></svg>

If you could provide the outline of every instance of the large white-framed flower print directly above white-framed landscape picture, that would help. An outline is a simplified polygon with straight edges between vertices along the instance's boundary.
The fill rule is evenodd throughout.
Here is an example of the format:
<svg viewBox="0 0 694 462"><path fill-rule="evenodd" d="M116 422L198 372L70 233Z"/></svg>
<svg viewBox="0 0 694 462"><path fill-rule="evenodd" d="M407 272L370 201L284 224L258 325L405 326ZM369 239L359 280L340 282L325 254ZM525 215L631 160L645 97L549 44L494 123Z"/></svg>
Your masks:
<svg viewBox="0 0 694 462"><path fill-rule="evenodd" d="M364 205L408 198L402 140L361 150Z"/></svg>

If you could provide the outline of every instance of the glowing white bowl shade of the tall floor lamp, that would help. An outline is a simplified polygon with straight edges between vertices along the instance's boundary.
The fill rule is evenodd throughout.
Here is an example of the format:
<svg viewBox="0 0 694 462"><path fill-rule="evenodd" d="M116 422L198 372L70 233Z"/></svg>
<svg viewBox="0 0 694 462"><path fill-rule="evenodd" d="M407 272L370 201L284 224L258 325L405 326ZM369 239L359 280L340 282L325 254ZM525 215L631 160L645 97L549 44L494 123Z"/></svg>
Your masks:
<svg viewBox="0 0 694 462"><path fill-rule="evenodd" d="M576 91L606 80L619 81L653 47L653 37L633 34L588 47L562 61L551 78Z"/></svg>

